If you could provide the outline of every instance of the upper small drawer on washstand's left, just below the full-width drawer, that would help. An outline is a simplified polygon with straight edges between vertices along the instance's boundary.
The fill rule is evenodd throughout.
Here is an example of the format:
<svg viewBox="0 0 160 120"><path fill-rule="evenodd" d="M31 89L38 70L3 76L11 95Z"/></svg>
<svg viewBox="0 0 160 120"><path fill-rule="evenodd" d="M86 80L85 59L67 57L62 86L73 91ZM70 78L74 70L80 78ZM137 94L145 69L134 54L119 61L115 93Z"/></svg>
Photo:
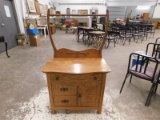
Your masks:
<svg viewBox="0 0 160 120"><path fill-rule="evenodd" d="M53 95L76 95L76 86L52 85Z"/></svg>

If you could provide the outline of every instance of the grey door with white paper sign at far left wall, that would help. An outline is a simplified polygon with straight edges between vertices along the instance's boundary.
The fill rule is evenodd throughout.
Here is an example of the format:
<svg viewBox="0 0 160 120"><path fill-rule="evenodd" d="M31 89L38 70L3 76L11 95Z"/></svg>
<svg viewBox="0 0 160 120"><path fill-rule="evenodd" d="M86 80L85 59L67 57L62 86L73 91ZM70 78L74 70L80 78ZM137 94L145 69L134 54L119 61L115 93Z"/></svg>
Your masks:
<svg viewBox="0 0 160 120"><path fill-rule="evenodd" d="M18 27L14 11L12 0L0 0L0 35L4 36L8 49L17 46ZM5 46L0 43L0 52L3 51L5 51Z"/></svg>

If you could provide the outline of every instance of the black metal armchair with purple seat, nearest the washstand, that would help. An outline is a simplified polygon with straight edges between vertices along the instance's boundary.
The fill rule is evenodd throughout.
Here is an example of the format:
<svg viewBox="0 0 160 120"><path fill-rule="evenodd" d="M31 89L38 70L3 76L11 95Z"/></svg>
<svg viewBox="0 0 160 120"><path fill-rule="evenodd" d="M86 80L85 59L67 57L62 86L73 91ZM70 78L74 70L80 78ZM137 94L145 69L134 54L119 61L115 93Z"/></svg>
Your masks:
<svg viewBox="0 0 160 120"><path fill-rule="evenodd" d="M151 63L150 62L151 59L154 59L155 62ZM155 58L152 58L146 55L137 54L137 53L131 53L129 56L127 73L123 81L122 87L120 89L120 93L122 92L123 86L129 76L130 76L130 83L132 80L132 76L135 76L153 83L154 80L157 79L157 74L158 74L157 68L158 68L158 61ZM148 103L147 101L148 101L148 98L146 100L146 103Z"/></svg>

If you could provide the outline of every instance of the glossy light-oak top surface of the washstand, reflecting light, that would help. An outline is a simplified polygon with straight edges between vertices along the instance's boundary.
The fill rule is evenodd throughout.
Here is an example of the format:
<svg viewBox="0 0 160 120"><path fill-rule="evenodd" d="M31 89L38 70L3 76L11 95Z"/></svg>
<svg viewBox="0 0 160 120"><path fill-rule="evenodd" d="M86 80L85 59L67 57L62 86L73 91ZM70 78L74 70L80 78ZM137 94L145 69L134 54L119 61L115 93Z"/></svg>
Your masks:
<svg viewBox="0 0 160 120"><path fill-rule="evenodd" d="M58 73L108 73L111 69L103 58L52 58L43 67L42 72Z"/></svg>

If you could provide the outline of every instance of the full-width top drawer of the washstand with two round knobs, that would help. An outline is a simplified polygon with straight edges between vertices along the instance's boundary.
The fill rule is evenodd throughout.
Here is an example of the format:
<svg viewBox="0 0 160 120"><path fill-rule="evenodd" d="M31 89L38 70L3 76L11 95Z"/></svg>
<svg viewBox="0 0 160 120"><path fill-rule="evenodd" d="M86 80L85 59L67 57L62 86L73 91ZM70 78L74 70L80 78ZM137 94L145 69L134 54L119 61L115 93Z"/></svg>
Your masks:
<svg viewBox="0 0 160 120"><path fill-rule="evenodd" d="M102 73L90 73L90 74L63 74L52 73L50 74L51 80L55 83L65 84L95 84L102 83Z"/></svg>

